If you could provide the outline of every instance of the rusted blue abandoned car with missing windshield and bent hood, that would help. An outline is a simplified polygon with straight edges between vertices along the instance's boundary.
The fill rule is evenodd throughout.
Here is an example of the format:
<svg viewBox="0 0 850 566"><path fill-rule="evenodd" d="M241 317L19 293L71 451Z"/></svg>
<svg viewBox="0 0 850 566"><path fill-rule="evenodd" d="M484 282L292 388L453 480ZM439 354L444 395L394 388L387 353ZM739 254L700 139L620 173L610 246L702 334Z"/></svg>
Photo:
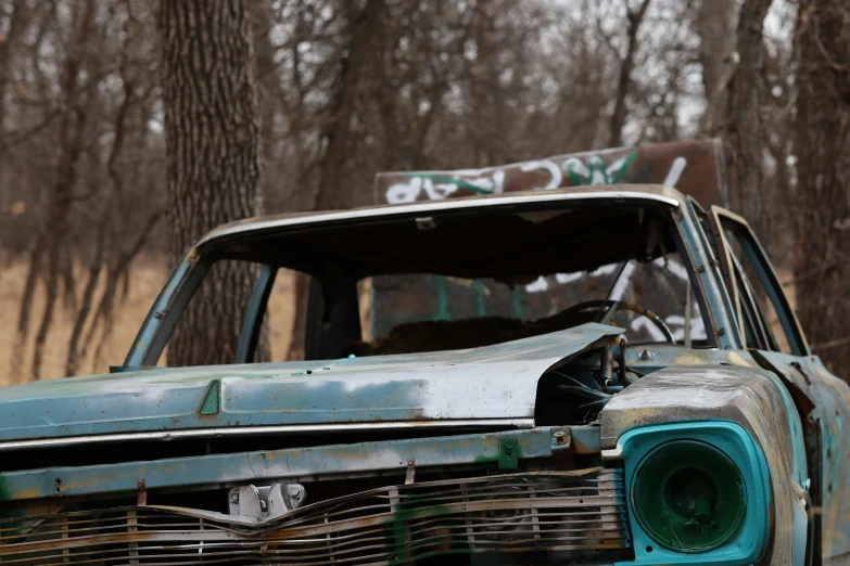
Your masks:
<svg viewBox="0 0 850 566"><path fill-rule="evenodd" d="M233 262L232 364L154 368ZM255 363L284 270L304 359ZM850 563L850 389L660 184L221 227L115 370L0 390L2 564Z"/></svg>

